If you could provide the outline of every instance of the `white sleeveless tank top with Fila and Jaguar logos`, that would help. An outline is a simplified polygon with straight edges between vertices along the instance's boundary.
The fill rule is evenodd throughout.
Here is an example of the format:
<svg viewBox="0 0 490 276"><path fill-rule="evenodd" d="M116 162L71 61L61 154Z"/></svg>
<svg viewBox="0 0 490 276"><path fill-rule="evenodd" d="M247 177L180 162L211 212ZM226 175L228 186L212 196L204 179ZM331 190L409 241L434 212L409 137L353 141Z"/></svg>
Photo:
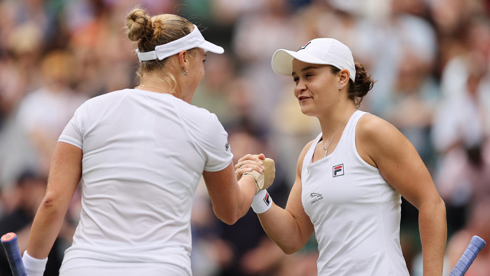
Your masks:
<svg viewBox="0 0 490 276"><path fill-rule="evenodd" d="M358 154L347 122L334 151L314 163L318 134L303 160L302 202L314 225L318 275L409 275L400 247L400 194Z"/></svg>

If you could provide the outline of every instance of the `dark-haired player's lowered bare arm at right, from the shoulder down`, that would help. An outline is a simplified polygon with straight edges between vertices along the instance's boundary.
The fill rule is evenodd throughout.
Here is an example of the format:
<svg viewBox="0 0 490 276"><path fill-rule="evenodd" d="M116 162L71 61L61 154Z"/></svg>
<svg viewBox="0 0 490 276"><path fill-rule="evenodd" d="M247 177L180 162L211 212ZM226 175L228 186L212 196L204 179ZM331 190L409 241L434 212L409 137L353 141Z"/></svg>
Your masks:
<svg viewBox="0 0 490 276"><path fill-rule="evenodd" d="M361 157L419 210L424 276L442 275L446 206L418 152L397 128L371 114L359 120L356 133Z"/></svg>

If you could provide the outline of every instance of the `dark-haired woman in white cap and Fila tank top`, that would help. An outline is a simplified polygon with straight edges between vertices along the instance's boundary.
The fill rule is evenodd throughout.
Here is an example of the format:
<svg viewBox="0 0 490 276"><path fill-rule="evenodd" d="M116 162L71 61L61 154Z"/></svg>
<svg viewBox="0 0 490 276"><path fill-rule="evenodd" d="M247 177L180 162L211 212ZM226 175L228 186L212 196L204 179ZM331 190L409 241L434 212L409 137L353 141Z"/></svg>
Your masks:
<svg viewBox="0 0 490 276"><path fill-rule="evenodd" d="M442 275L445 204L410 142L393 125L357 110L374 82L349 48L317 38L296 52L278 50L272 67L292 77L301 111L318 118L322 132L300 153L285 209L266 190L255 196L252 206L267 235L291 254L314 232L318 275L408 275L401 194L419 209L424 275Z"/></svg>

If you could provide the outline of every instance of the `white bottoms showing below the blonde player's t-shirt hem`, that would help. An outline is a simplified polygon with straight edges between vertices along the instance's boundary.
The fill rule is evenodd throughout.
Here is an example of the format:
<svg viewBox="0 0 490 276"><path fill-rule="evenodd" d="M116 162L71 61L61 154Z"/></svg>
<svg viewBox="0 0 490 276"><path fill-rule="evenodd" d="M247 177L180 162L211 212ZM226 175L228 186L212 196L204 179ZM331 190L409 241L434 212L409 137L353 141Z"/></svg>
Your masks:
<svg viewBox="0 0 490 276"><path fill-rule="evenodd" d="M60 276L192 276L190 271L166 263L104 262L94 259L75 258L63 263Z"/></svg>

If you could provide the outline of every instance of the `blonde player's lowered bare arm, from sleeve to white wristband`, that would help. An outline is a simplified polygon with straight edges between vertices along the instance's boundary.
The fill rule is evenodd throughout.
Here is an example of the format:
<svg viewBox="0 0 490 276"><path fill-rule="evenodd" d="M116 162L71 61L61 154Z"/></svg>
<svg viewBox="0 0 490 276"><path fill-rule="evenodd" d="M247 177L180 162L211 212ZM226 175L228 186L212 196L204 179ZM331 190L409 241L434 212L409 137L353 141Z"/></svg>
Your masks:
<svg viewBox="0 0 490 276"><path fill-rule="evenodd" d="M77 190L82 173L82 150L58 142L51 162L46 195L37 210L29 235L28 254L44 259L53 246Z"/></svg>

